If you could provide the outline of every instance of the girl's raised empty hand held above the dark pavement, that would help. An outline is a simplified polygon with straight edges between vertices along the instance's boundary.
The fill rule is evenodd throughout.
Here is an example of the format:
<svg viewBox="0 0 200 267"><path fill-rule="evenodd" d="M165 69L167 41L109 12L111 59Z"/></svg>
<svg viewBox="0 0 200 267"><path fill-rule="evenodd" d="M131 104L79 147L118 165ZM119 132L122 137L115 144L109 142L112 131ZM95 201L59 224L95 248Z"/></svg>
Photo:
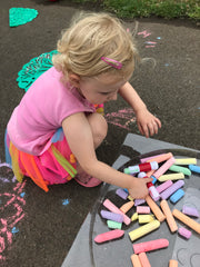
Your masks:
<svg viewBox="0 0 200 267"><path fill-rule="evenodd" d="M148 109L140 109L136 112L137 116L137 123L139 131L146 136L153 136L158 134L158 129L161 128L161 121L149 112Z"/></svg>

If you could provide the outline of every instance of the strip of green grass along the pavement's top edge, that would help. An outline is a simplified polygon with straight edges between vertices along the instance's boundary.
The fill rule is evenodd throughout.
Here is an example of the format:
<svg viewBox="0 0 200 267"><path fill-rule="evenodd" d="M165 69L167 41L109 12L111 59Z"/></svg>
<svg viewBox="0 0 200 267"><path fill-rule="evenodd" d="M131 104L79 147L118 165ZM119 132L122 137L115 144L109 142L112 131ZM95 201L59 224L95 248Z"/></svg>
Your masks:
<svg viewBox="0 0 200 267"><path fill-rule="evenodd" d="M200 4L196 0L73 0L76 3L98 3L103 10L120 18L191 18L200 19Z"/></svg>

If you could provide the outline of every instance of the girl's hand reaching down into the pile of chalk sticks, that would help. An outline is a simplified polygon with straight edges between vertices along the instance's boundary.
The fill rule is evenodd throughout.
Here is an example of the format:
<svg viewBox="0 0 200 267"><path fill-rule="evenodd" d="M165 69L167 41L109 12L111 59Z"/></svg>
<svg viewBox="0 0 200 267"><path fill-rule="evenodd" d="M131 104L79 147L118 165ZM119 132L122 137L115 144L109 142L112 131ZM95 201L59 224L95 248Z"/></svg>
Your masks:
<svg viewBox="0 0 200 267"><path fill-rule="evenodd" d="M132 178L133 187L129 188L130 196L134 198L146 198L149 194L147 182L152 181L152 178Z"/></svg>

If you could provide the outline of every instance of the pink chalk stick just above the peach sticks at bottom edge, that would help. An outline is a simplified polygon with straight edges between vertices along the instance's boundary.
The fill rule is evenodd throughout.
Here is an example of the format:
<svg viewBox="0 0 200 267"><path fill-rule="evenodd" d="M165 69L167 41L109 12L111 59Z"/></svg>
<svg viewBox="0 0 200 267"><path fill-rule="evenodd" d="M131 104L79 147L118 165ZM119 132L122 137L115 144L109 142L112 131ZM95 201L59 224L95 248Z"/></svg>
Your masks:
<svg viewBox="0 0 200 267"><path fill-rule="evenodd" d="M140 254L140 253L147 253L147 251L164 248L168 246L169 246L168 239L162 238L162 239L156 239L156 240L146 241L146 243L133 244L132 248L134 254Z"/></svg>

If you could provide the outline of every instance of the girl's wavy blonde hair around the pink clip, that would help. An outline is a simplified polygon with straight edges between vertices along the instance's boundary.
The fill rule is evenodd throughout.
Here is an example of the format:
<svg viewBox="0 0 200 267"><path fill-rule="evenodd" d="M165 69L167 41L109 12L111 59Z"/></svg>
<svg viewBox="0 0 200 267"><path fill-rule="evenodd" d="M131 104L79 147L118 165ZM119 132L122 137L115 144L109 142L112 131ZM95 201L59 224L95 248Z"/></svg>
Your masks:
<svg viewBox="0 0 200 267"><path fill-rule="evenodd" d="M80 77L94 77L104 72L129 77L139 55L132 34L122 22L108 13L81 13L64 30L58 41L53 66L63 78L73 72ZM122 63L116 69L101 60L107 57Z"/></svg>

